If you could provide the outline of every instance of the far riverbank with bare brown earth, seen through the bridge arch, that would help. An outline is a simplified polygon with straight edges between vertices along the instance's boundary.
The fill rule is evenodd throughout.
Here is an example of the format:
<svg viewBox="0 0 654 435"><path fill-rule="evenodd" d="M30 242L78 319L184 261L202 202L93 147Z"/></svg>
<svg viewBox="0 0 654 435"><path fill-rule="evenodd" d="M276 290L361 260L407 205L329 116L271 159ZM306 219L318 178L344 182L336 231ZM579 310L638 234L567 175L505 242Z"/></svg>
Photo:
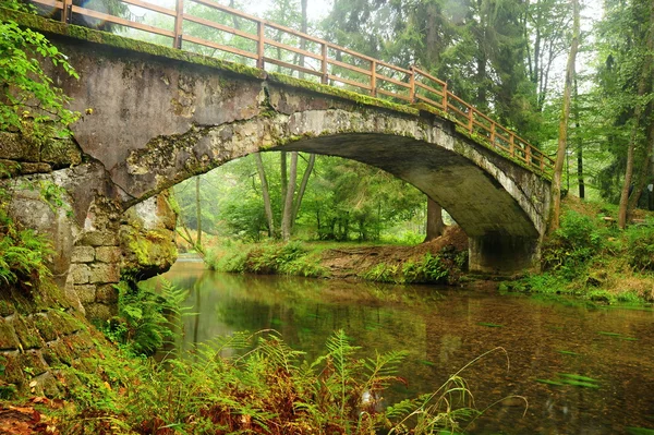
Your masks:
<svg viewBox="0 0 654 435"><path fill-rule="evenodd" d="M414 246L361 243L227 244L208 251L210 269L393 283L455 285L468 265L468 237L448 227L438 239Z"/></svg>

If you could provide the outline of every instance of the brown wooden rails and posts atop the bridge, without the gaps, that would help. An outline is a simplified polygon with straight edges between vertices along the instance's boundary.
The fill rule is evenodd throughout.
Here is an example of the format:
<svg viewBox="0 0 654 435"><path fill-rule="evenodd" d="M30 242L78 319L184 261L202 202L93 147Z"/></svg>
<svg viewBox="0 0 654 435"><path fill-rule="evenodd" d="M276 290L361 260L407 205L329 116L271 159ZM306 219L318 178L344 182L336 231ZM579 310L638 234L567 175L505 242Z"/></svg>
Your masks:
<svg viewBox="0 0 654 435"><path fill-rule="evenodd" d="M509 129L498 124L492 118L475 109L472 105L452 94L448 89L447 82L437 78L416 67L405 69L393 65L383 60L350 50L346 47L337 46L315 36L294 31L281 24L262 20L254 15L238 11L233 8L216 3L211 0L177 0L174 10L150 3L147 0L121 0L123 3L136 5L138 8L144 8L146 10L173 17L174 28L172 31L137 23L135 21L118 17L90 9L80 8L73 5L71 0L32 1L34 3L61 10L61 20L65 23L71 22L72 14L90 16L96 20L105 20L113 24L172 37L172 46L178 49L182 49L183 41L190 41L214 48L221 52L241 56L245 59L252 59L256 62L256 67L259 69L265 69L266 63L275 64L281 68L287 68L292 72L308 73L310 76L315 76L315 80L318 80L324 84L328 84L329 82L341 83L359 89L365 89L374 97L384 96L395 100L408 101L409 104L416 101L426 102L427 105L434 106L438 110L441 110L446 117L449 117L456 124L458 124L469 134L475 135L475 137L479 136L482 141L488 142L491 147L497 152L508 152L511 157L524 162L530 169L547 174L552 174L554 170L554 159L545 155L542 150L534 147L522 137L518 136ZM190 13L184 12L184 4L190 3L202 4L203 7L220 11L227 15L231 15L232 17L247 20L255 24L256 33L250 33L246 32L246 29L237 28L237 24L234 24L234 26L230 26L222 23L216 23L207 19L193 16ZM219 44L217 41L185 35L183 31L183 25L185 22L204 25L219 32L252 40L255 43L254 45L256 48L254 51L251 51L234 47L233 45L230 46L229 43ZM299 38L300 40L314 44L314 47L317 45L319 52L314 52L307 48L301 49L282 40L275 40L270 37L266 37L267 29L274 29L276 32ZM305 44L305 46L308 46L308 44ZM266 56L266 47L274 47L291 52L296 57L296 59L313 59L316 70L314 71L304 64L298 64L293 61L288 62L282 59L275 59L270 56ZM338 57L338 59L329 56L329 50L336 51L336 57ZM377 71L378 68L382 69L382 72ZM339 69L341 71L340 74ZM364 81L359 82L358 80L352 80L352 74L343 75L342 72L347 71L360 74ZM399 80L390 76L398 73L403 74L400 75ZM380 86L380 82L382 86L384 87ZM389 86L389 84L391 86ZM424 93L427 95L424 95ZM436 98L440 98L441 101L435 100L433 98L434 96ZM508 146L505 146L505 144Z"/></svg>

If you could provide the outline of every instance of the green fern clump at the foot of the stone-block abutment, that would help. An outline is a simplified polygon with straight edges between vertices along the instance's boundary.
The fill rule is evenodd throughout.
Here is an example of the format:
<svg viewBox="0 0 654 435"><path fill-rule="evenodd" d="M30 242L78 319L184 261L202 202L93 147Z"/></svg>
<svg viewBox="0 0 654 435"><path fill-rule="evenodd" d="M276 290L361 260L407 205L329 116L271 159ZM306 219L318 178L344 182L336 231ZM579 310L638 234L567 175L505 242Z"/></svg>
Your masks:
<svg viewBox="0 0 654 435"><path fill-rule="evenodd" d="M102 326L105 335L133 355L152 355L174 338L175 322L184 314L186 291L161 280L159 294L144 288L132 289L126 282L119 291L118 316Z"/></svg>

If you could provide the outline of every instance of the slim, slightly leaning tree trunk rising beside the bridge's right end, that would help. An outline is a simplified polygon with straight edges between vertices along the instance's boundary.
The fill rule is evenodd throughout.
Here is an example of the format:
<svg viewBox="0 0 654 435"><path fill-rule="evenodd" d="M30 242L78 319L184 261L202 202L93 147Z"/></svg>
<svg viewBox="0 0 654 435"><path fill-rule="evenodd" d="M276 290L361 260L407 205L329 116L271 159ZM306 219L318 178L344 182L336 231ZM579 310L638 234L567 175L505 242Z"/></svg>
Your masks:
<svg viewBox="0 0 654 435"><path fill-rule="evenodd" d="M564 89L564 107L559 122L558 148L556 152L556 164L554 166L554 177L552 180L552 210L549 213L549 229L552 233L559 227L561 214L561 176L564 172L564 162L566 158L566 147L568 145L568 120L570 119L570 94L572 90L572 80L574 77L574 60L579 49L579 0L572 0L574 10L574 24L572 25L572 44L568 56L568 65L566 67L566 87Z"/></svg>

